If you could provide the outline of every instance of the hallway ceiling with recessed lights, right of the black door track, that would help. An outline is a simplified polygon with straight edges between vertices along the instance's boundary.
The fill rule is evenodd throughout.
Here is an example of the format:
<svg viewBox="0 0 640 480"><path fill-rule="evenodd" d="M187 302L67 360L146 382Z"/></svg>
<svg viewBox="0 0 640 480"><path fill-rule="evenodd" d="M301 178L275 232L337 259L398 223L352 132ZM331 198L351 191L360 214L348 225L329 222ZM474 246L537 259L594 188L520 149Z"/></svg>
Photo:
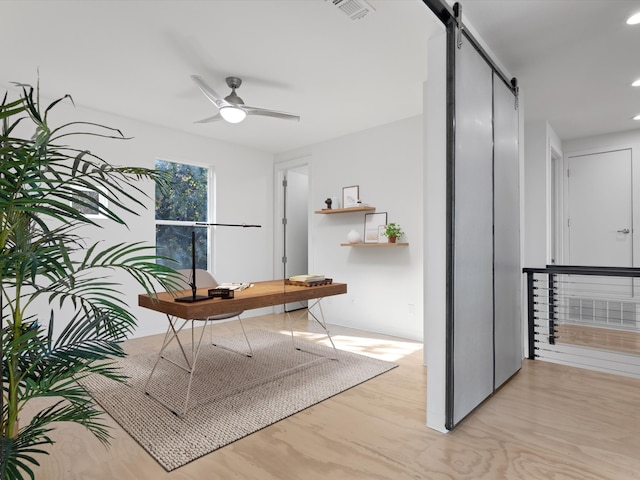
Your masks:
<svg viewBox="0 0 640 480"><path fill-rule="evenodd" d="M638 0L467 0L467 16L523 89L526 120L563 140L640 129Z"/></svg>

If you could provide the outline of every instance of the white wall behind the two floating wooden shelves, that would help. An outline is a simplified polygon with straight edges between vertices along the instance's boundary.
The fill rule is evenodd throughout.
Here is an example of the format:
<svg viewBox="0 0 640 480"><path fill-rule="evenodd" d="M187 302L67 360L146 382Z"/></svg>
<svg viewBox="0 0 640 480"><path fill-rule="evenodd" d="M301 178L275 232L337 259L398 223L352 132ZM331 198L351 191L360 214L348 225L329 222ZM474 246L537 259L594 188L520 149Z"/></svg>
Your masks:
<svg viewBox="0 0 640 480"><path fill-rule="evenodd" d="M423 338L422 116L394 122L276 156L306 156L310 165L309 271L348 284L326 298L329 323L421 340ZM342 187L359 185L360 198L399 223L407 247L343 247L364 213L314 214Z"/></svg>

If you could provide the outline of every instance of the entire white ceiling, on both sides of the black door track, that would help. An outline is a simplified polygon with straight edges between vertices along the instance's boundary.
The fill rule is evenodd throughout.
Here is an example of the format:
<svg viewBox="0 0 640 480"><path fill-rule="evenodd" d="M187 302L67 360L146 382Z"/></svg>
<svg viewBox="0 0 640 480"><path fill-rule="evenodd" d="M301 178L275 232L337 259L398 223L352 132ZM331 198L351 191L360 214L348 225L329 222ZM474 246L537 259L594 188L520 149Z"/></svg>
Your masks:
<svg viewBox="0 0 640 480"><path fill-rule="evenodd" d="M368 0L353 21L331 0L0 0L0 87L267 152L418 115L427 41L441 28L421 0ZM563 138L640 128L637 0L467 0L465 16L524 91L527 118ZM192 83L301 121L194 124L216 109ZM111 125L117 127L118 125ZM130 134L130 132L125 132ZM135 132L132 133L135 135Z"/></svg>

